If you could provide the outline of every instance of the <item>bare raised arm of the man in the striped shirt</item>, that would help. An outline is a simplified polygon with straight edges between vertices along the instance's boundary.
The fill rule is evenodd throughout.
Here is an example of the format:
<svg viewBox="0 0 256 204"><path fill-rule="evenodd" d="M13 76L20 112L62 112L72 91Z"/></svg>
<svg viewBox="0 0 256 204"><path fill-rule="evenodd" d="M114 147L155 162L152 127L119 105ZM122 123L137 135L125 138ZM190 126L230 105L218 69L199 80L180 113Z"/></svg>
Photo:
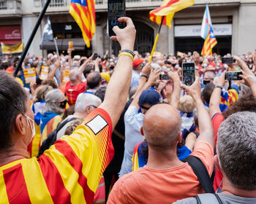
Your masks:
<svg viewBox="0 0 256 204"><path fill-rule="evenodd" d="M127 26L124 29L115 26L113 31L116 36L112 36L111 39L119 42L121 50L133 50L136 30L132 20L129 17L120 17L118 21L127 23ZM105 99L99 106L110 114L113 128L116 126L127 101L131 78L132 58L128 55L121 55L108 83Z"/></svg>

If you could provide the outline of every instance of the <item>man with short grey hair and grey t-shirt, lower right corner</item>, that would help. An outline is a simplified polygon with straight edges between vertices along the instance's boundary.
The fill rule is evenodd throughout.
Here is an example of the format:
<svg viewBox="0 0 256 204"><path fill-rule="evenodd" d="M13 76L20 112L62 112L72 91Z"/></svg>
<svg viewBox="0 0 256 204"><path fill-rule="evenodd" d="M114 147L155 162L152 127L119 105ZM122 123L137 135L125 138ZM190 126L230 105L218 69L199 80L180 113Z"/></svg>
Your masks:
<svg viewBox="0 0 256 204"><path fill-rule="evenodd" d="M223 175L222 203L256 203L256 113L230 115L219 127L214 163ZM211 194L198 195L200 202L219 203ZM197 203L195 197L176 204Z"/></svg>

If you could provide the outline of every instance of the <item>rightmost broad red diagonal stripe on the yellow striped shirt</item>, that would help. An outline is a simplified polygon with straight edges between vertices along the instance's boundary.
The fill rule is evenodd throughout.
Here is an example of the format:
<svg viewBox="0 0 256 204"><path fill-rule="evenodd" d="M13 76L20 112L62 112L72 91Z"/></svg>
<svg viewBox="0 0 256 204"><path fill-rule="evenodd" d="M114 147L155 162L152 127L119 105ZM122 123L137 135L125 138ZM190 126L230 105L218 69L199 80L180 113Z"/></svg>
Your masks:
<svg viewBox="0 0 256 204"><path fill-rule="evenodd" d="M61 154L66 157L69 161L70 165L76 172L78 172L78 184L83 187L83 195L86 199L86 203L94 203L94 192L88 187L87 178L83 175L82 168L83 162L79 159L79 157L75 154L71 146L67 144L67 141L61 140L55 143L55 148L61 152ZM97 178L94 178L97 179Z"/></svg>

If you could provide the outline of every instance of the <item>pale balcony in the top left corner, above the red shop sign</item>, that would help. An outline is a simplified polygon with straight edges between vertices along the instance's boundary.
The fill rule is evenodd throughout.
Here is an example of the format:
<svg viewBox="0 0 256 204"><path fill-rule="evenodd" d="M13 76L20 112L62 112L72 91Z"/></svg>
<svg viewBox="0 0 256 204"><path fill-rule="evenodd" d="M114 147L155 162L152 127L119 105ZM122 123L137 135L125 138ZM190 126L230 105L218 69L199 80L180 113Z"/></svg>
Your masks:
<svg viewBox="0 0 256 204"><path fill-rule="evenodd" d="M0 16L21 16L21 0L0 0Z"/></svg>

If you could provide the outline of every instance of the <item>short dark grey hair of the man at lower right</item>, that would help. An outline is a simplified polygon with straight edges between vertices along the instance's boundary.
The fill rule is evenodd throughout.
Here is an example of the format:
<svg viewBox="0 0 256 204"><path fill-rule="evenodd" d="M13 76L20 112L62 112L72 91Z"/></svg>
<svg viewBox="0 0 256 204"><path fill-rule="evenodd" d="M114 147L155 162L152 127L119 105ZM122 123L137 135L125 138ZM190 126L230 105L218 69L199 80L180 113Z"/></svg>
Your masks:
<svg viewBox="0 0 256 204"><path fill-rule="evenodd" d="M219 127L217 154L222 170L233 187L256 189L256 113L230 115Z"/></svg>

